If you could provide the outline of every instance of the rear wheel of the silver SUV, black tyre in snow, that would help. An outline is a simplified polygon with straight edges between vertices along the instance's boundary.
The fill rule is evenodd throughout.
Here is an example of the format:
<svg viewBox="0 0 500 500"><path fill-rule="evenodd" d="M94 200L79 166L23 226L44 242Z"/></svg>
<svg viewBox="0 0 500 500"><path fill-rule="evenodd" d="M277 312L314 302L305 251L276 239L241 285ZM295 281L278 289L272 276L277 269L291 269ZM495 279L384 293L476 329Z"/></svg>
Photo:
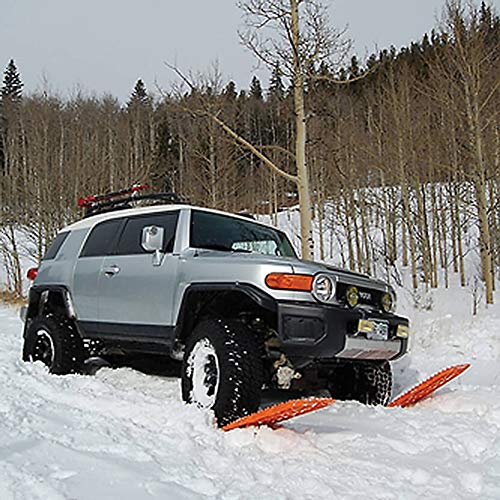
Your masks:
<svg viewBox="0 0 500 500"><path fill-rule="evenodd" d="M50 373L80 373L85 360L83 341L65 318L37 316L26 332L24 361L41 361Z"/></svg>

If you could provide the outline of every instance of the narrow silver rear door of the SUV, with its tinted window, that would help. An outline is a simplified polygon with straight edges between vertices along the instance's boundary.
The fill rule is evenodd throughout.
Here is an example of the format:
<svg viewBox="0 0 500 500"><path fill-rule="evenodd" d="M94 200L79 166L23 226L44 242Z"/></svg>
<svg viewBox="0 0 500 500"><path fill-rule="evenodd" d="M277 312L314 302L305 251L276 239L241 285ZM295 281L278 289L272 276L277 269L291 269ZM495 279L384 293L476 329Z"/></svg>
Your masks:
<svg viewBox="0 0 500 500"><path fill-rule="evenodd" d="M99 321L99 278L104 257L114 250L123 219L111 219L94 226L78 255L72 284L72 298L80 322L95 330Z"/></svg>

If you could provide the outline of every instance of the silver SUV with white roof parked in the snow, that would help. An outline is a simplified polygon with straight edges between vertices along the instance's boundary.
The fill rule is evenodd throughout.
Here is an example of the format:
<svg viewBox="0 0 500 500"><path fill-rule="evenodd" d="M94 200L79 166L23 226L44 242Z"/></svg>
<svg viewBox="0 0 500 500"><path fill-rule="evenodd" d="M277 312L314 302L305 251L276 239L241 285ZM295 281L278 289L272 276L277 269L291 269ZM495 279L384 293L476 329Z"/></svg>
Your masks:
<svg viewBox="0 0 500 500"><path fill-rule="evenodd" d="M146 198L92 197L57 235L22 311L25 361L55 374L95 356L182 361L183 399L220 425L266 388L387 402L389 360L408 345L390 286L300 260L249 217L158 195L137 207Z"/></svg>

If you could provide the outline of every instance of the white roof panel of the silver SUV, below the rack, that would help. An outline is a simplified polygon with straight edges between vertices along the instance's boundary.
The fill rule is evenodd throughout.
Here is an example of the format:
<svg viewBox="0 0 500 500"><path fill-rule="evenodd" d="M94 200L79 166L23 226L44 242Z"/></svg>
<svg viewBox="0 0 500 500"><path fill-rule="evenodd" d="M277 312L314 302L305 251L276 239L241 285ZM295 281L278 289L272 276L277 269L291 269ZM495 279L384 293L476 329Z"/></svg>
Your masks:
<svg viewBox="0 0 500 500"><path fill-rule="evenodd" d="M96 215L91 215L90 217L87 217L85 219L79 220L78 222L75 222L64 229L62 229L62 232L65 231L75 231L77 229L87 229L89 227L93 227L99 222L103 222L106 220L112 220L112 219L119 219L122 217L130 217L132 215L147 215L147 214L156 214L159 212L171 212L173 210L182 210L182 209L188 209L188 210L202 210L204 212L212 212L220 215L226 215L229 217L234 217L236 219L242 219L245 221L251 221L256 224L260 224L261 226L265 227L271 227L274 230L278 230L277 228L270 226L269 224L264 224L263 222L257 221L257 220L251 220L248 217L245 217L244 215L238 215L238 214L232 214L229 212L223 212L222 210L214 210L212 208L203 208L203 207L195 207L192 205L185 205L185 204L180 204L180 205L153 205L149 207L138 207L138 208L127 208L124 210L115 210L115 211L110 211L110 212L105 212L103 214L96 214Z"/></svg>

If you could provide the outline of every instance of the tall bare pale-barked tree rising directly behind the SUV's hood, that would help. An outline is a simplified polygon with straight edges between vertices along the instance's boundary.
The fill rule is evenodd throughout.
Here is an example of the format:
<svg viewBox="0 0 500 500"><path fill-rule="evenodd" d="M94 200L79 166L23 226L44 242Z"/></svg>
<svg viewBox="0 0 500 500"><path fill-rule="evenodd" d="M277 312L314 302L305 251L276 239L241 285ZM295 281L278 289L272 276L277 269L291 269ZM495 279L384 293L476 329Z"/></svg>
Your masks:
<svg viewBox="0 0 500 500"><path fill-rule="evenodd" d="M295 112L295 173L299 193L302 257L313 257L312 203L307 163L305 88L315 65L333 62L342 33L331 28L321 0L246 0L239 3L245 16L242 43L268 68L278 65L293 86ZM278 169L279 170L279 169Z"/></svg>

